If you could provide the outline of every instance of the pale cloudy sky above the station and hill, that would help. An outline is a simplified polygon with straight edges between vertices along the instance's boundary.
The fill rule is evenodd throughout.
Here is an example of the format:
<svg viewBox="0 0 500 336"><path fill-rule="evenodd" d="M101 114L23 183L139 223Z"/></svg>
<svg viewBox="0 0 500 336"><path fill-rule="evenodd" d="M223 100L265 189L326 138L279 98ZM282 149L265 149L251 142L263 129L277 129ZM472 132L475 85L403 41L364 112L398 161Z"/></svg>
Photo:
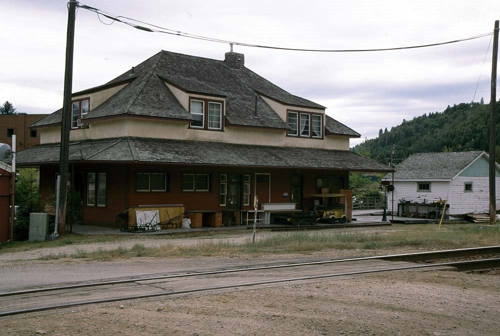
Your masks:
<svg viewBox="0 0 500 336"><path fill-rule="evenodd" d="M62 106L67 1L0 0L0 103L18 112ZM175 31L291 48L366 49L445 42L493 30L498 0L82 0ZM104 23L112 21L101 17ZM234 46L245 66L288 92L327 107L361 134L355 145L403 119L490 97L490 36L418 49L286 51ZM223 59L226 43L106 25L79 8L73 92L97 86L159 50ZM480 77L480 79L479 79ZM498 94L497 94L498 98Z"/></svg>

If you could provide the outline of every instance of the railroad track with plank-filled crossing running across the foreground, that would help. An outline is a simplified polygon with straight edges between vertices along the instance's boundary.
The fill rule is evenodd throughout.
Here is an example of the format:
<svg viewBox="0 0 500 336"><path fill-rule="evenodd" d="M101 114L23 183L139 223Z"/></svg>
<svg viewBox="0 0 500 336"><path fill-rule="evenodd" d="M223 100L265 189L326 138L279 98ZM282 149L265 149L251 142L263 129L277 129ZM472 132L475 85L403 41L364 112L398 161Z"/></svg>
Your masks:
<svg viewBox="0 0 500 336"><path fill-rule="evenodd" d="M483 258L483 256L488 257ZM84 304L277 283L314 282L336 276L354 276L396 270L442 269L443 267L456 267L462 271L486 270L500 268L500 257L498 256L500 256L500 246L487 246L75 283L0 293L0 316ZM474 259L459 260L471 257ZM445 262L432 262L436 260L445 260Z"/></svg>

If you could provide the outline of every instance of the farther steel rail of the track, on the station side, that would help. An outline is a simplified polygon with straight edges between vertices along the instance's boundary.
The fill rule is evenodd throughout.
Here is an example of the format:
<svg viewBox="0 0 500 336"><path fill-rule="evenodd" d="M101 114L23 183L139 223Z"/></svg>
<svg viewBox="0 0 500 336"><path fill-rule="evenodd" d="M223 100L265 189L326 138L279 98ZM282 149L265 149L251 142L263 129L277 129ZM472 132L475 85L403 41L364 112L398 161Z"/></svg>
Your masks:
<svg viewBox="0 0 500 336"><path fill-rule="evenodd" d="M66 285L66 286L44 287L44 288L34 288L34 289L2 292L2 293L0 293L0 297L10 296L10 295L19 295L19 294L30 294L30 293L43 292L43 291L52 291L52 290L63 290L63 289L104 286L104 285L110 285L110 284L131 283L131 282L147 281L147 280L161 280L161 279L169 279L169 278L176 278L176 277L213 275L213 274L234 273L234 272L243 272L243 271L250 271L250 270L273 269L273 268L299 267L299 266L306 266L306 265L319 265L319 264L339 263L339 262L348 262L348 261L361 261L361 260L373 260L373 259L382 259L382 260L411 260L411 259L415 259L415 260L422 260L423 257L425 257L425 256L432 257L432 258L436 259L437 257L441 257L441 255L453 255L454 254L455 257L460 256L460 255L479 255L479 254L470 254L470 253L473 253L473 252L475 252L475 253L483 252L484 253L485 251L487 251L488 253L500 253L500 245L498 245L498 246L471 247L471 248L459 248L459 249L447 249L447 250L430 251L430 252L389 254L389 255L380 255L380 256L363 256L363 257L346 258L346 259L332 259L332 260L322 260L322 261L298 262L298 263L288 263L288 264L279 264L279 265L270 265L270 266L246 267L246 268L231 268L231 269L210 270L210 271L194 272L194 273L171 274L171 275L160 275L160 276L151 276L151 277L138 277L138 278L131 278L131 279L123 279L123 280L80 283L80 284L71 284L71 285Z"/></svg>

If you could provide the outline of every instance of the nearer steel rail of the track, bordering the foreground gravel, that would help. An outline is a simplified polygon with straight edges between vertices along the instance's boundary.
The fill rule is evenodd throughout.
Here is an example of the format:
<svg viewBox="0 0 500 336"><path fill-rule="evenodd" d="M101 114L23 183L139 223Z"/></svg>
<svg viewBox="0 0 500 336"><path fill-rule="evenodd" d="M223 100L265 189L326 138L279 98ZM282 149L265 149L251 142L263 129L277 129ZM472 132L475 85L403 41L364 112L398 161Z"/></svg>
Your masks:
<svg viewBox="0 0 500 336"><path fill-rule="evenodd" d="M313 279L346 276L346 275L380 273L380 272L395 271L395 270L408 270L408 269L429 268L429 267L444 267L444 266L456 267L456 266L463 266L463 265L468 265L468 267L470 269L470 265L472 265L472 264L479 264L480 265L483 263L500 265L500 258L467 260L467 261L453 261L453 262L442 262L442 263L433 263L433 264L416 264L416 265L411 265L411 266L399 266L399 267L389 267L389 268L381 268L381 269L359 270L359 271L353 271L353 272L343 272L343 273L333 273L333 274L292 277L292 278L268 280L268 281L237 283L237 284L231 284L231 285L213 286L213 287L198 288L198 289L166 291L166 292L153 293L153 294L130 295L130 296L123 296L123 297L118 297L118 298L88 300L88 301L80 301L80 302L72 302L72 303L64 303L64 304L54 304L54 305L46 305L46 306L39 306L39 307L26 308L26 309L4 311L4 312L0 312L0 317L10 316L10 315L18 315L18 314L23 314L23 313L28 313L28 312L51 310L51 309L57 309L57 308L68 308L68 307L73 307L73 306L77 306L77 305L108 303L108 302L125 301L125 300L132 300L132 299L157 297L157 296L171 296L171 295L187 294L187 293L193 293L193 292L220 290L220 289L236 288L236 287L248 287L248 286L256 286L256 285L262 285L262 284L273 284L273 283L280 283L280 282L313 280ZM480 268L480 269L482 269L482 268Z"/></svg>

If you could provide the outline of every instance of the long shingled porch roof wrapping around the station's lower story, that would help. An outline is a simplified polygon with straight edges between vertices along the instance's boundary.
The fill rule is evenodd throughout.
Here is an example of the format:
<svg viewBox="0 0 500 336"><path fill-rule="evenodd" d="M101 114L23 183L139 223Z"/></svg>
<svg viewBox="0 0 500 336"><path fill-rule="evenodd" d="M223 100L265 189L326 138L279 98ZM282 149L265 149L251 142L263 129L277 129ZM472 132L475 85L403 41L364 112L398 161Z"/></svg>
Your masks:
<svg viewBox="0 0 500 336"><path fill-rule="evenodd" d="M16 156L19 166L59 161L59 143L39 144ZM388 166L350 150L277 147L237 143L119 137L72 141L70 162L150 162L349 171L392 171Z"/></svg>

